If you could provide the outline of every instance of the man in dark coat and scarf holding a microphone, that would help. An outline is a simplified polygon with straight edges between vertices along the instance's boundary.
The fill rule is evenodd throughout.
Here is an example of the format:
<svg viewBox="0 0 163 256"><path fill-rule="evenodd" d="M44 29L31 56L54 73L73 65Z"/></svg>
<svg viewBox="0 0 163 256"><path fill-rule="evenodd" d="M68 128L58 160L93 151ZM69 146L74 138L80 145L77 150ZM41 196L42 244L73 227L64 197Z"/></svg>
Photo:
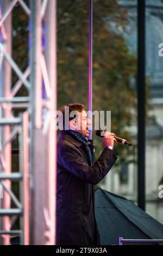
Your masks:
<svg viewBox="0 0 163 256"><path fill-rule="evenodd" d="M68 127L65 127L65 107L69 110ZM104 134L104 149L93 164L87 144L91 121L85 106L68 104L60 111L63 129L57 149L57 245L100 245L93 185L108 174L117 159L115 134ZM78 112L76 118L71 117L72 111Z"/></svg>

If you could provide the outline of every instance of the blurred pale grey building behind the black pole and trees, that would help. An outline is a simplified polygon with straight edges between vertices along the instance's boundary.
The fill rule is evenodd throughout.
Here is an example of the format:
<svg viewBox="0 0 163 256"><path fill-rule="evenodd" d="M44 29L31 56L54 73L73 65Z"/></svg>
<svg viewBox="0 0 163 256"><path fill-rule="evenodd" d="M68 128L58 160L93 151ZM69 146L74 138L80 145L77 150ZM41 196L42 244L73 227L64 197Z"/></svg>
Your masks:
<svg viewBox="0 0 163 256"><path fill-rule="evenodd" d="M137 50L137 1L119 1L128 10L130 25L124 35L131 52ZM163 57L159 44L163 42L163 1L146 0L146 76L149 81L150 105L146 124L146 211L163 223L163 201L158 197L163 184ZM136 123L130 127L136 144ZM136 159L135 159L136 160ZM116 167L114 167L116 169ZM137 200L137 165L122 163L102 181L101 187L113 193Z"/></svg>

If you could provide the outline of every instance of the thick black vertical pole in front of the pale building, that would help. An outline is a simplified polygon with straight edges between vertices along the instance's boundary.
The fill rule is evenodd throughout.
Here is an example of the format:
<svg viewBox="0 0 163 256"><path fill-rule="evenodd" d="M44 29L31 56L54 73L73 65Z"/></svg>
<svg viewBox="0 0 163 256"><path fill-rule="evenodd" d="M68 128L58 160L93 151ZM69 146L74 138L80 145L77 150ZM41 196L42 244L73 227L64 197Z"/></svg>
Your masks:
<svg viewBox="0 0 163 256"><path fill-rule="evenodd" d="M137 1L137 24L138 206L145 210L145 0Z"/></svg>

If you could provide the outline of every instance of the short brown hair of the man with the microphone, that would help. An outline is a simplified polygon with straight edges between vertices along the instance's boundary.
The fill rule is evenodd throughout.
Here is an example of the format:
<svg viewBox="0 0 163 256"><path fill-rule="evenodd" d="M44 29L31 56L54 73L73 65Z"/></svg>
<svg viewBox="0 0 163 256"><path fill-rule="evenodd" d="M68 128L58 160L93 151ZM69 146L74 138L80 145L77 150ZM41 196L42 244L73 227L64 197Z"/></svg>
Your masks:
<svg viewBox="0 0 163 256"><path fill-rule="evenodd" d="M86 110L85 105L83 105L81 103L71 103L71 104L62 106L60 108L60 111L62 112L62 116L63 116L63 128L64 129L65 129L65 107L67 107L67 106L69 107L69 121L74 119L74 117L70 117L70 114L72 111L82 112L83 110Z"/></svg>

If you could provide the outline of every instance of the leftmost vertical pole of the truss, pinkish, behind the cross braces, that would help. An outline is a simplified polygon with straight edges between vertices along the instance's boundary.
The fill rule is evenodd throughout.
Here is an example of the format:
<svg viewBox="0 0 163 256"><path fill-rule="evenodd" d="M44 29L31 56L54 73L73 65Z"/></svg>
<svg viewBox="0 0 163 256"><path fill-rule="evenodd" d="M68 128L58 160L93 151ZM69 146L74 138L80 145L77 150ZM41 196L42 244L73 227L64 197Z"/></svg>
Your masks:
<svg viewBox="0 0 163 256"><path fill-rule="evenodd" d="M10 4L10 0L3 1L3 9L5 10L8 5ZM8 35L7 41L5 42L5 50L11 56L11 13L8 15L7 19L4 21L4 28L5 32ZM3 62L3 97L10 98L11 97L11 66L10 64L4 59ZM11 109L10 106L7 105L7 108L3 111L3 117L10 118L11 117ZM3 128L3 140L6 141L9 138L10 134L10 126L5 126ZM5 147L4 150L4 160L5 160L5 174L11 173L11 143ZM9 180L5 181L5 185L8 188L11 188L11 182ZM4 205L5 209L10 209L10 195L7 192L4 192ZM10 230L10 218L8 216L3 217L3 227L4 230ZM4 235L4 245L10 244L10 237L9 235Z"/></svg>

